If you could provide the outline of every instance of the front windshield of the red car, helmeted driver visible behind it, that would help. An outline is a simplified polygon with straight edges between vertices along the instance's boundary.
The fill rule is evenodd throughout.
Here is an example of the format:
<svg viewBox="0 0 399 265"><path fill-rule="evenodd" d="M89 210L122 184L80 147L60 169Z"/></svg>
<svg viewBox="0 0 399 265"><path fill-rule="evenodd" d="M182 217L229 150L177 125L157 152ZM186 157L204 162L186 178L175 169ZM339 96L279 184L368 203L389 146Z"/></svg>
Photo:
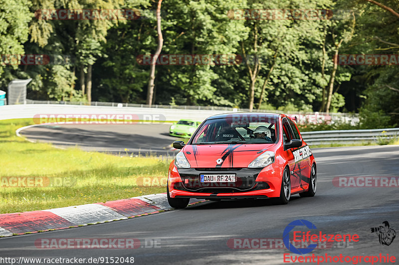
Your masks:
<svg viewBox="0 0 399 265"><path fill-rule="evenodd" d="M266 115L209 119L192 144L272 144L277 139L276 126L277 119Z"/></svg>

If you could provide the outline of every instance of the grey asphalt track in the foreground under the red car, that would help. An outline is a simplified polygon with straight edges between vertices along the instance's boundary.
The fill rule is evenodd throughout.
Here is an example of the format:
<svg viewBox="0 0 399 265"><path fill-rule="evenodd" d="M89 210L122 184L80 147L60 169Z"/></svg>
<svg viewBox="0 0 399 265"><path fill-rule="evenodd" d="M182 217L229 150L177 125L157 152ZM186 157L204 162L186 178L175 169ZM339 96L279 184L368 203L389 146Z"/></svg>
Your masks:
<svg viewBox="0 0 399 265"><path fill-rule="evenodd" d="M331 249L316 249L308 255L399 256L399 235L390 246L383 246L377 234L371 233L370 229L389 221L391 228L399 232L398 187L354 188L332 184L334 177L397 177L399 146L312 151L318 164L315 197L294 195L288 205L272 205L268 199L204 202L182 210L123 221L2 238L0 257L134 257L134 264L139 265L287 264L283 260L284 254L293 255L291 257L295 254L285 248L230 249L227 242L233 238L281 239L284 228L297 219L312 222L317 227L315 231L322 231L323 234L358 234L360 237L359 242L349 243L345 248L333 245ZM42 238L135 238L141 241L142 246L145 240L161 243L159 248L131 250L37 249L34 242Z"/></svg>

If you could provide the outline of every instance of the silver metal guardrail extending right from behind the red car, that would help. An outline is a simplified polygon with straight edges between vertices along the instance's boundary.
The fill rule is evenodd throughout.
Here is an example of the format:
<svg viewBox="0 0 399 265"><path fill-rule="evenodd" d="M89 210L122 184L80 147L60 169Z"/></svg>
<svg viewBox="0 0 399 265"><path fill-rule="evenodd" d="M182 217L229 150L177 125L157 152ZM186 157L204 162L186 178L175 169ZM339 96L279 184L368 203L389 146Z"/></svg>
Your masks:
<svg viewBox="0 0 399 265"><path fill-rule="evenodd" d="M303 132L301 135L309 145L377 143L381 140L398 139L399 128L314 131Z"/></svg>

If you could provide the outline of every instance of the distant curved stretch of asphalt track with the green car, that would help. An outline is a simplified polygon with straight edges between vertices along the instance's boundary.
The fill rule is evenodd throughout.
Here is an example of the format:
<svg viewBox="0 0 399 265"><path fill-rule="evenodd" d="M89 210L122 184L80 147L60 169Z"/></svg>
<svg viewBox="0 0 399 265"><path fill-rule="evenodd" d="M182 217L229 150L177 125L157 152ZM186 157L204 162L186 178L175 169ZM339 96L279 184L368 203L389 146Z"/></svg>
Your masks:
<svg viewBox="0 0 399 265"><path fill-rule="evenodd" d="M85 151L138 155L173 155L170 146L181 138L169 136L170 124L65 124L26 128L20 134L27 139L53 143L58 147L78 145Z"/></svg>

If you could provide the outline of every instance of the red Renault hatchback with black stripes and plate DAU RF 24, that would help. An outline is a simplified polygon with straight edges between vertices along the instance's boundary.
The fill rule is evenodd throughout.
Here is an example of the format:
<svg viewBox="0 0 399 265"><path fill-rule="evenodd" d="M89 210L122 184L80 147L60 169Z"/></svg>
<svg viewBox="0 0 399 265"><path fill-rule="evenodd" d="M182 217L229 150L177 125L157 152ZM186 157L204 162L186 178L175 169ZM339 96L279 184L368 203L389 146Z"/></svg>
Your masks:
<svg viewBox="0 0 399 265"><path fill-rule="evenodd" d="M316 193L316 162L297 126L284 114L227 113L207 118L169 167L169 204L190 198L275 198Z"/></svg>

